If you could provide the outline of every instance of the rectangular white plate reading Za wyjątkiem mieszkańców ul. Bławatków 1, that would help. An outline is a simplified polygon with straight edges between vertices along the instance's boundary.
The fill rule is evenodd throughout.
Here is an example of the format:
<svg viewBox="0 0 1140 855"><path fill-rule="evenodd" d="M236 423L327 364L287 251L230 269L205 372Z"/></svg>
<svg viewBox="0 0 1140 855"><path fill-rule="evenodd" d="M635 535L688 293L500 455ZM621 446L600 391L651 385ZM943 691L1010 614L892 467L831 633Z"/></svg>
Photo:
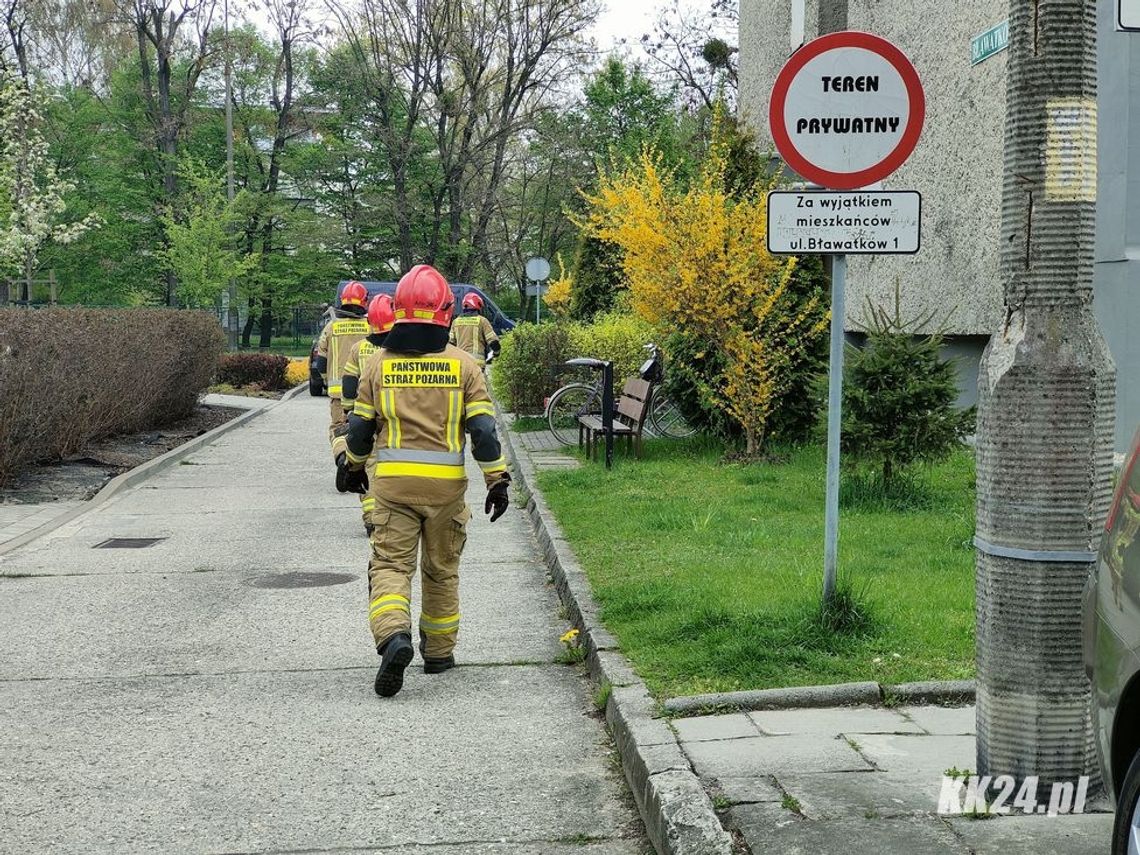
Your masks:
<svg viewBox="0 0 1140 855"><path fill-rule="evenodd" d="M922 196L914 190L773 190L773 254L909 255L921 245Z"/></svg>

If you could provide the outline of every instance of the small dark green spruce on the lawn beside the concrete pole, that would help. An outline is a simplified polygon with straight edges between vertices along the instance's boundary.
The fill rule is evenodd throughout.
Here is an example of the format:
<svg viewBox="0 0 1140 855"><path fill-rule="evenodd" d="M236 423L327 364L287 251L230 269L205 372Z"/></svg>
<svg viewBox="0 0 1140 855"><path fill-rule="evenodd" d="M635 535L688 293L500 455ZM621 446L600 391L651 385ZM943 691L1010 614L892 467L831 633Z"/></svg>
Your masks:
<svg viewBox="0 0 1140 855"><path fill-rule="evenodd" d="M876 464L889 486L899 471L950 456L974 430L974 409L954 406L953 363L940 335L913 335L899 314L869 307L866 343L848 351L844 372L842 447Z"/></svg>

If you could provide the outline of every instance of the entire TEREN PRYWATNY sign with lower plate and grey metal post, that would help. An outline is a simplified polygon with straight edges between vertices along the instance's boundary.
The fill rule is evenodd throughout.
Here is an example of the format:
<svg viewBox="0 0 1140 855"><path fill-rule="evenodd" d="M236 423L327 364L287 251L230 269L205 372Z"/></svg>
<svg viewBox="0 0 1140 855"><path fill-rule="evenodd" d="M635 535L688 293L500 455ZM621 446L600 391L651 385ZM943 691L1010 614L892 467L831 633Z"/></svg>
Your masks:
<svg viewBox="0 0 1140 855"><path fill-rule="evenodd" d="M860 188L906 161L925 117L922 83L910 59L885 39L855 32L824 35L792 54L768 106L772 138L784 163L828 188L768 194L767 235L772 253L831 255L824 603L836 593L839 563L847 253L909 254L921 242L919 194Z"/></svg>

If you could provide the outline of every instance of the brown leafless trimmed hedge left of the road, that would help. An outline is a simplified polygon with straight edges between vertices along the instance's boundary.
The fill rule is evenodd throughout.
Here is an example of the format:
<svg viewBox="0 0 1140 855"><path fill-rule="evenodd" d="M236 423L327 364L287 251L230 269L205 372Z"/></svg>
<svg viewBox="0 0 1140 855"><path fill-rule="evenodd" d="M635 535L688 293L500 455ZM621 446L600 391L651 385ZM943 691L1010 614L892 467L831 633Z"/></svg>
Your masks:
<svg viewBox="0 0 1140 855"><path fill-rule="evenodd" d="M0 484L32 461L190 415L223 345L205 312L0 309Z"/></svg>

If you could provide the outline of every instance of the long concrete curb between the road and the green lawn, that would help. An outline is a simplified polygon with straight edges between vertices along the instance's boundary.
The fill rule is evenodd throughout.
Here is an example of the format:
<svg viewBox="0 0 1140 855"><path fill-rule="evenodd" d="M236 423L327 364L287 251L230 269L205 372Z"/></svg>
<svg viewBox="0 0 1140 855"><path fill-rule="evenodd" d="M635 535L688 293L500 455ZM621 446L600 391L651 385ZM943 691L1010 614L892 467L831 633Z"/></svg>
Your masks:
<svg viewBox="0 0 1140 855"><path fill-rule="evenodd" d="M527 455L514 448L511 431L496 408L499 435L514 464L514 483L527 495L527 514L543 548L559 597L578 627L586 665L594 681L611 686L605 703L609 726L626 781L659 855L731 855L732 838L712 809L676 734L661 718L645 684L602 626L585 571L538 490Z"/></svg>

